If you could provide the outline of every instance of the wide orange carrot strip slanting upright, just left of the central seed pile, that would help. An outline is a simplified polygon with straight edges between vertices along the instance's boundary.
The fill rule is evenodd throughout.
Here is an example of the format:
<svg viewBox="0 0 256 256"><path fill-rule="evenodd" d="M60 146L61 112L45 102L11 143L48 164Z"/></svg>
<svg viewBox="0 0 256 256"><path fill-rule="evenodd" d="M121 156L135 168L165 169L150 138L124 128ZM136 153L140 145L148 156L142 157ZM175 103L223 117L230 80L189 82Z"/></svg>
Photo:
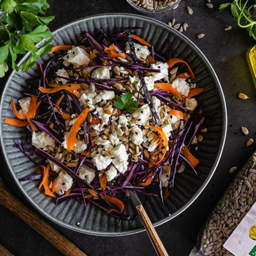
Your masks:
<svg viewBox="0 0 256 256"><path fill-rule="evenodd" d="M70 129L70 132L67 136L67 151L70 152L75 144L76 144L76 135L77 132L82 125L82 123L85 121L85 118L87 117L89 112L89 108L85 108L82 113L76 118L73 126Z"/></svg>

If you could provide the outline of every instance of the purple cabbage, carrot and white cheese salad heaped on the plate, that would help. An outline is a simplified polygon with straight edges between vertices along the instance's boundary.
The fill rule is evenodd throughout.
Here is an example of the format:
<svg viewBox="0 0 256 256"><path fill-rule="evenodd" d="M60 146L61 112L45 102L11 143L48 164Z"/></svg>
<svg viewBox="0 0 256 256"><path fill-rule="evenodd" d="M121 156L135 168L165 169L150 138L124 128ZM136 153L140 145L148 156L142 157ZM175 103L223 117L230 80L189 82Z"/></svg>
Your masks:
<svg viewBox="0 0 256 256"><path fill-rule="evenodd" d="M5 123L27 128L16 146L37 166L21 180L38 180L56 204L76 199L86 210L91 202L129 219L128 189L156 196L157 187L164 201L177 173L196 174L190 147L204 120L196 100L204 89L185 60L158 54L138 29L54 46L41 77L11 101L15 117Z"/></svg>

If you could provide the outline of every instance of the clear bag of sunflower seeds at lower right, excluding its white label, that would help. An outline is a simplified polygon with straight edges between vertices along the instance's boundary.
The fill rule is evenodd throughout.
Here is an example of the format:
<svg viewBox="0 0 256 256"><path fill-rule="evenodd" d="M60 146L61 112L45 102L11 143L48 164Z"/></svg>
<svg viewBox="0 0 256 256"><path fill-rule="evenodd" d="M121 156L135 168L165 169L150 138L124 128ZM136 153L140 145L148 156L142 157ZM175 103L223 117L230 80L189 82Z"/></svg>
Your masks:
<svg viewBox="0 0 256 256"><path fill-rule="evenodd" d="M190 255L234 255L226 250L223 244L246 213L249 212L255 201L256 151L237 173L235 179L215 206L210 218L206 221L206 225L198 235L197 251L193 250L194 253ZM245 235L247 236L247 234Z"/></svg>

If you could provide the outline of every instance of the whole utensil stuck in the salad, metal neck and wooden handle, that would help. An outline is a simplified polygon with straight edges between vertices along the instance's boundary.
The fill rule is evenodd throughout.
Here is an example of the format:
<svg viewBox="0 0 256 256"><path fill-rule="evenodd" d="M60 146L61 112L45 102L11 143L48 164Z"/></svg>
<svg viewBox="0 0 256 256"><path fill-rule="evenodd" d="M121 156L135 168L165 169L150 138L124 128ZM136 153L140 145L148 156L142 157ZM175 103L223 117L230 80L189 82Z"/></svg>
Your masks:
<svg viewBox="0 0 256 256"><path fill-rule="evenodd" d="M150 221L148 214L146 213L144 207L142 206L138 195L133 190L129 190L129 195L132 199L132 202L133 202L137 212L140 215L140 218L143 222L145 229L147 230L148 236L157 252L157 255L168 256L168 253L166 252L161 239L157 235L156 230L155 230L152 222Z"/></svg>

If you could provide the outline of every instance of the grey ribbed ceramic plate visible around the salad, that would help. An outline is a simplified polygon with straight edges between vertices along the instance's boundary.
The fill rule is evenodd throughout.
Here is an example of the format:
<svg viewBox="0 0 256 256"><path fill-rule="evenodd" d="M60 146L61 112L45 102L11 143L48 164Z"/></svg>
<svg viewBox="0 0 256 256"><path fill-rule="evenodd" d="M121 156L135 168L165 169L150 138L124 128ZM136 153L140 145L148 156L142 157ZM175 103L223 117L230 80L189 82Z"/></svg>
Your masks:
<svg viewBox="0 0 256 256"><path fill-rule="evenodd" d="M176 30L162 22L134 14L94 15L74 21L54 32L53 43L76 45L84 37L84 31L94 34L101 28L107 34L114 34L116 31L135 26L143 27L142 30L137 31L137 34L149 41L155 46L157 52L165 56L168 52L167 41L170 40L172 56L186 60L194 70L198 87L205 88L197 98L203 103L204 125L208 129L204 134L204 140L197 145L198 150L194 152L201 161L197 166L198 174L195 175L191 171L177 174L174 191L164 204L159 197L148 198L145 204L146 211L154 226L158 226L176 217L195 201L211 179L221 156L226 137L226 105L220 83L211 64L188 38ZM49 56L39 62L45 63L47 60ZM144 230L138 218L122 221L118 226L118 219L110 217L91 204L87 207L80 227L77 227L76 222L81 218L83 205L76 201L68 201L57 206L54 199L44 196L37 189L37 182L19 181L20 178L33 174L35 165L28 161L19 149L13 147L17 140L22 141L25 138L25 129L6 125L3 121L5 116L13 116L10 101L12 98L15 102L22 98L22 91L26 87L25 79L37 77L39 74L38 65L26 74L13 72L5 85L1 99L1 144L6 164L19 189L37 211L69 229L104 236L128 235ZM130 210L133 210L132 206Z"/></svg>

